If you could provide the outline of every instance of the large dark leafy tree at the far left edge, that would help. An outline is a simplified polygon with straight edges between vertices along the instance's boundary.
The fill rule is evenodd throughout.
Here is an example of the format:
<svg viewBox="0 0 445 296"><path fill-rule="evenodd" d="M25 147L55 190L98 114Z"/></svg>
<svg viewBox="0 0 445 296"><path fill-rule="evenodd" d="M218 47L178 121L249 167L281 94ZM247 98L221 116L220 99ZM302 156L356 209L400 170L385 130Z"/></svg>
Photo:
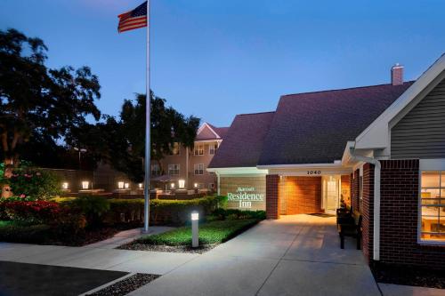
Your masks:
<svg viewBox="0 0 445 296"><path fill-rule="evenodd" d="M0 147L6 178L31 137L63 140L86 124L85 116L101 116L95 106L101 97L98 77L88 67L47 68L46 52L39 38L0 30Z"/></svg>

